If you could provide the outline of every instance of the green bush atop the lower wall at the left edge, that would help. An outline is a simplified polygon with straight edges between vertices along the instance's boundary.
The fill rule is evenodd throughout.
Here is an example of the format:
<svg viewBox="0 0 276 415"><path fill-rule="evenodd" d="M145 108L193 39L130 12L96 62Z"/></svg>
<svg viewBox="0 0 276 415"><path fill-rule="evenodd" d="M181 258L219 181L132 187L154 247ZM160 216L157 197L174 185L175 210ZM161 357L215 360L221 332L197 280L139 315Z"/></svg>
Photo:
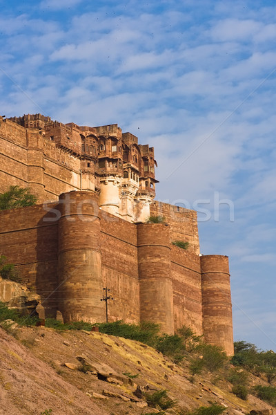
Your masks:
<svg viewBox="0 0 276 415"><path fill-rule="evenodd" d="M10 186L9 190L0 194L0 210L25 208L37 203L37 197L28 188Z"/></svg>

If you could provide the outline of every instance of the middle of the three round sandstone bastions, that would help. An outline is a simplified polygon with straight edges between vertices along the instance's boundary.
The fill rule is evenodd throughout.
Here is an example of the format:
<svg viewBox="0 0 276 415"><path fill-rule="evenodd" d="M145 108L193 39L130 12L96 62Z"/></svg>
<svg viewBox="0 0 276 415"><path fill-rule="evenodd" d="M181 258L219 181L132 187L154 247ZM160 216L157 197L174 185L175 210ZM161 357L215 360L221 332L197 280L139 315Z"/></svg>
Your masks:
<svg viewBox="0 0 276 415"><path fill-rule="evenodd" d="M137 225L140 320L160 324L162 333L173 334L168 230L163 223Z"/></svg>

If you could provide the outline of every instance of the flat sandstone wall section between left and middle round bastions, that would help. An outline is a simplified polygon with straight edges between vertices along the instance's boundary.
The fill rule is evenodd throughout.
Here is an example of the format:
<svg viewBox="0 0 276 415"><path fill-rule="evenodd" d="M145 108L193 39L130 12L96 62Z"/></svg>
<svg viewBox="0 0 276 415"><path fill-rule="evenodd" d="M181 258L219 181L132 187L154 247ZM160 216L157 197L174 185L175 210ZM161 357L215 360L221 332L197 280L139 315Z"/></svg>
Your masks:
<svg viewBox="0 0 276 415"><path fill-rule="evenodd" d="M103 287L114 300L108 303L110 321L139 322L137 232L126 222L101 210L101 266Z"/></svg>

